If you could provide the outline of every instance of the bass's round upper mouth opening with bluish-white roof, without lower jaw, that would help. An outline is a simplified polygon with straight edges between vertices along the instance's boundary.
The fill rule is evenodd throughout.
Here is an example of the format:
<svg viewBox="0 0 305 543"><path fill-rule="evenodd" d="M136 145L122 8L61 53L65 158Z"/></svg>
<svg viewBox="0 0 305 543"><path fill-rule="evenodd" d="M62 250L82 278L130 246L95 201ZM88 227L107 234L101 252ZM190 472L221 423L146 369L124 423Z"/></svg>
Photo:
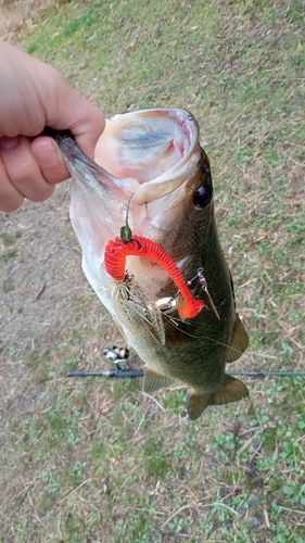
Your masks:
<svg viewBox="0 0 305 543"><path fill-rule="evenodd" d="M143 205L185 182L195 150L199 127L188 111L142 110L106 119L94 159L116 179L134 179L132 203Z"/></svg>

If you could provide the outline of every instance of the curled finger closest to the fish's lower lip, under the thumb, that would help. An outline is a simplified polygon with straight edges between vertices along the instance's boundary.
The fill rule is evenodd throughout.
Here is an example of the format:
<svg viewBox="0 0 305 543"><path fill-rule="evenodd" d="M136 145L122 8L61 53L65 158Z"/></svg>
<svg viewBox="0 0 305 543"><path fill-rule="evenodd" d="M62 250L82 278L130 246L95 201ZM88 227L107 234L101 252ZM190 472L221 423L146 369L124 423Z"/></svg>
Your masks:
<svg viewBox="0 0 305 543"><path fill-rule="evenodd" d="M61 182L71 177L54 139L47 136L35 138L29 148L48 182Z"/></svg>

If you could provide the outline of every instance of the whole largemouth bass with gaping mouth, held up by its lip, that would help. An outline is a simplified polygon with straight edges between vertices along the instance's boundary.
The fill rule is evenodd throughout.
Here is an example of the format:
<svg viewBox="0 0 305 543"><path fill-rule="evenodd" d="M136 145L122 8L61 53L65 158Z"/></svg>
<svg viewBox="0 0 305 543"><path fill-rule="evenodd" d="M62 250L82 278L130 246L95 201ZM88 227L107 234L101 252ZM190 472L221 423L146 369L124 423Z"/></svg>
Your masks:
<svg viewBox="0 0 305 543"><path fill-rule="evenodd" d="M106 119L94 161L71 135L58 142L73 179L69 215L84 273L142 361L143 391L188 387L191 420L211 405L245 397L246 386L226 374L249 338L219 242L211 165L195 118L180 109L117 114ZM124 225L127 240L119 237ZM150 257L154 247L174 262L189 298ZM111 266L119 248L117 278ZM198 305L194 314L190 303Z"/></svg>

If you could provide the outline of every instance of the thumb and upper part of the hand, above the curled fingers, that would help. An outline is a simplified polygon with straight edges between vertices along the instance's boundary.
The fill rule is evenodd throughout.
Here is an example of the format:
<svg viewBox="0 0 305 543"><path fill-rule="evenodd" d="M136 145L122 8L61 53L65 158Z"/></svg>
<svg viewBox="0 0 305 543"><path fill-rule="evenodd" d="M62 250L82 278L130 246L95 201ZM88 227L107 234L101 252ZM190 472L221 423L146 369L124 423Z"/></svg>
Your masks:
<svg viewBox="0 0 305 543"><path fill-rule="evenodd" d="M82 151L92 159L105 125L103 113L52 66L10 43L0 42L0 49L7 58L1 66L4 70L2 79L7 84L0 81L3 83L0 104L1 101L4 105L10 104L10 108L3 108L0 135L33 137L45 126L69 129Z"/></svg>

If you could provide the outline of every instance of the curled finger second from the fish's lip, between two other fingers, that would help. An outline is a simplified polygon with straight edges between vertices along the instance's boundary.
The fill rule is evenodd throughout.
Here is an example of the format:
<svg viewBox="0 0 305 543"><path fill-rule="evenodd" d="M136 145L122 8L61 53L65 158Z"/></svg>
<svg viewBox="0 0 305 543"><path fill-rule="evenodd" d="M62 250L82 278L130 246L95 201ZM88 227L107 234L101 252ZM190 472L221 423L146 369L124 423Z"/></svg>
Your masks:
<svg viewBox="0 0 305 543"><path fill-rule="evenodd" d="M9 149L4 147L3 149L2 141L0 148L0 156L7 176L13 187L27 200L43 202L52 195L54 186L43 178L40 167L30 152L28 138L18 136L16 140L15 147Z"/></svg>

